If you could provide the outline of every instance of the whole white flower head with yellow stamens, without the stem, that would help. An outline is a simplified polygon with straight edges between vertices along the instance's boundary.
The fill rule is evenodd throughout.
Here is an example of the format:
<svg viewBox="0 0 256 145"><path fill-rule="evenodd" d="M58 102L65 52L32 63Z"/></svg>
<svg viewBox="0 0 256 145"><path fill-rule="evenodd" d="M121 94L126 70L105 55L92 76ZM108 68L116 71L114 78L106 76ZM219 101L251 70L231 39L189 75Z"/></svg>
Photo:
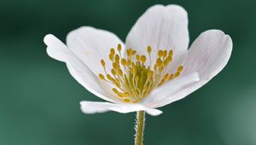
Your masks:
<svg viewBox="0 0 256 145"><path fill-rule="evenodd" d="M217 75L230 59L232 40L219 30L202 32L189 45L187 12L154 5L131 28L125 44L112 32L83 26L67 45L49 34L47 53L67 64L86 90L107 102L80 102L84 113L145 111L188 96ZM115 48L115 49L111 49Z"/></svg>

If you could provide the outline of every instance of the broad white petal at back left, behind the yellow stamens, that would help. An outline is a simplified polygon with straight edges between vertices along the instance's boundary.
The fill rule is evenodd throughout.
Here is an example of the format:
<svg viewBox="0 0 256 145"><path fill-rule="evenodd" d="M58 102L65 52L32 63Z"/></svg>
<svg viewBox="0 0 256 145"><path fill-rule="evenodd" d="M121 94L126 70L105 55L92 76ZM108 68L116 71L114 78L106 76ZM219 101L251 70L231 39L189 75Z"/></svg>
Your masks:
<svg viewBox="0 0 256 145"><path fill-rule="evenodd" d="M80 27L67 35L67 47L96 75L104 72L102 59L106 61L107 70L110 70L112 63L108 63L109 50L118 44L125 49L122 41L112 32L89 26Z"/></svg>

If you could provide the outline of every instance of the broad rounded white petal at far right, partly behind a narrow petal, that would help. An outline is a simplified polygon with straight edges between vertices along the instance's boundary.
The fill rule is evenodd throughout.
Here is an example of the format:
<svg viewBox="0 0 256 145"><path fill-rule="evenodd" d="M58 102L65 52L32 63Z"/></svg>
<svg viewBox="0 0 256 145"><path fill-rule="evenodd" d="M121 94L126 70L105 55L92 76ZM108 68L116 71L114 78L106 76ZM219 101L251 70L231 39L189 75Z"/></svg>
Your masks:
<svg viewBox="0 0 256 145"><path fill-rule="evenodd" d="M196 71L199 73L200 81L188 85L172 96L166 97L158 107L188 96L202 85L207 84L210 79L225 67L230 59L231 51L232 40L229 35L225 35L224 32L219 30L203 32L191 45L182 73L186 75Z"/></svg>

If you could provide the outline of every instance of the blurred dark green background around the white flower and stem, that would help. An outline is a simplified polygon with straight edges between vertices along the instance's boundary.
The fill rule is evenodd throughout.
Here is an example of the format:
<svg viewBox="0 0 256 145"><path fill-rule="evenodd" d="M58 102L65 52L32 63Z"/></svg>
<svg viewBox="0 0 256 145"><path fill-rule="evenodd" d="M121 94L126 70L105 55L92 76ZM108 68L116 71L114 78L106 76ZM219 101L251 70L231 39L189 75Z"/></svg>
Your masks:
<svg viewBox="0 0 256 145"><path fill-rule="evenodd" d="M125 40L155 3L189 13L189 35L218 28L233 52L224 71L189 97L147 116L145 145L256 144L256 2L253 0L0 1L0 144L131 145L135 113L81 113L82 100L100 101L64 63L46 54L43 38L95 26ZM191 43L191 42L190 42Z"/></svg>

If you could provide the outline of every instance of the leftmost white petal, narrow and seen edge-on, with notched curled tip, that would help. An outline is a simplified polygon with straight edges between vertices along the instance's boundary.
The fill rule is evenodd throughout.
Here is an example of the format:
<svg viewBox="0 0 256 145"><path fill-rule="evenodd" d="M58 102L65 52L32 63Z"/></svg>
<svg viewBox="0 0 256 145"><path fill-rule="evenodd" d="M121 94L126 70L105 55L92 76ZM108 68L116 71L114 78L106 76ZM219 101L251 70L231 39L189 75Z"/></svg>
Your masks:
<svg viewBox="0 0 256 145"><path fill-rule="evenodd" d="M58 38L49 34L44 38L44 43L47 45L47 53L52 58L58 61L67 63L69 72L72 74L79 84L82 84L86 90L108 102L118 102L111 94L102 88L99 79L94 73L84 65L73 52L67 48Z"/></svg>

